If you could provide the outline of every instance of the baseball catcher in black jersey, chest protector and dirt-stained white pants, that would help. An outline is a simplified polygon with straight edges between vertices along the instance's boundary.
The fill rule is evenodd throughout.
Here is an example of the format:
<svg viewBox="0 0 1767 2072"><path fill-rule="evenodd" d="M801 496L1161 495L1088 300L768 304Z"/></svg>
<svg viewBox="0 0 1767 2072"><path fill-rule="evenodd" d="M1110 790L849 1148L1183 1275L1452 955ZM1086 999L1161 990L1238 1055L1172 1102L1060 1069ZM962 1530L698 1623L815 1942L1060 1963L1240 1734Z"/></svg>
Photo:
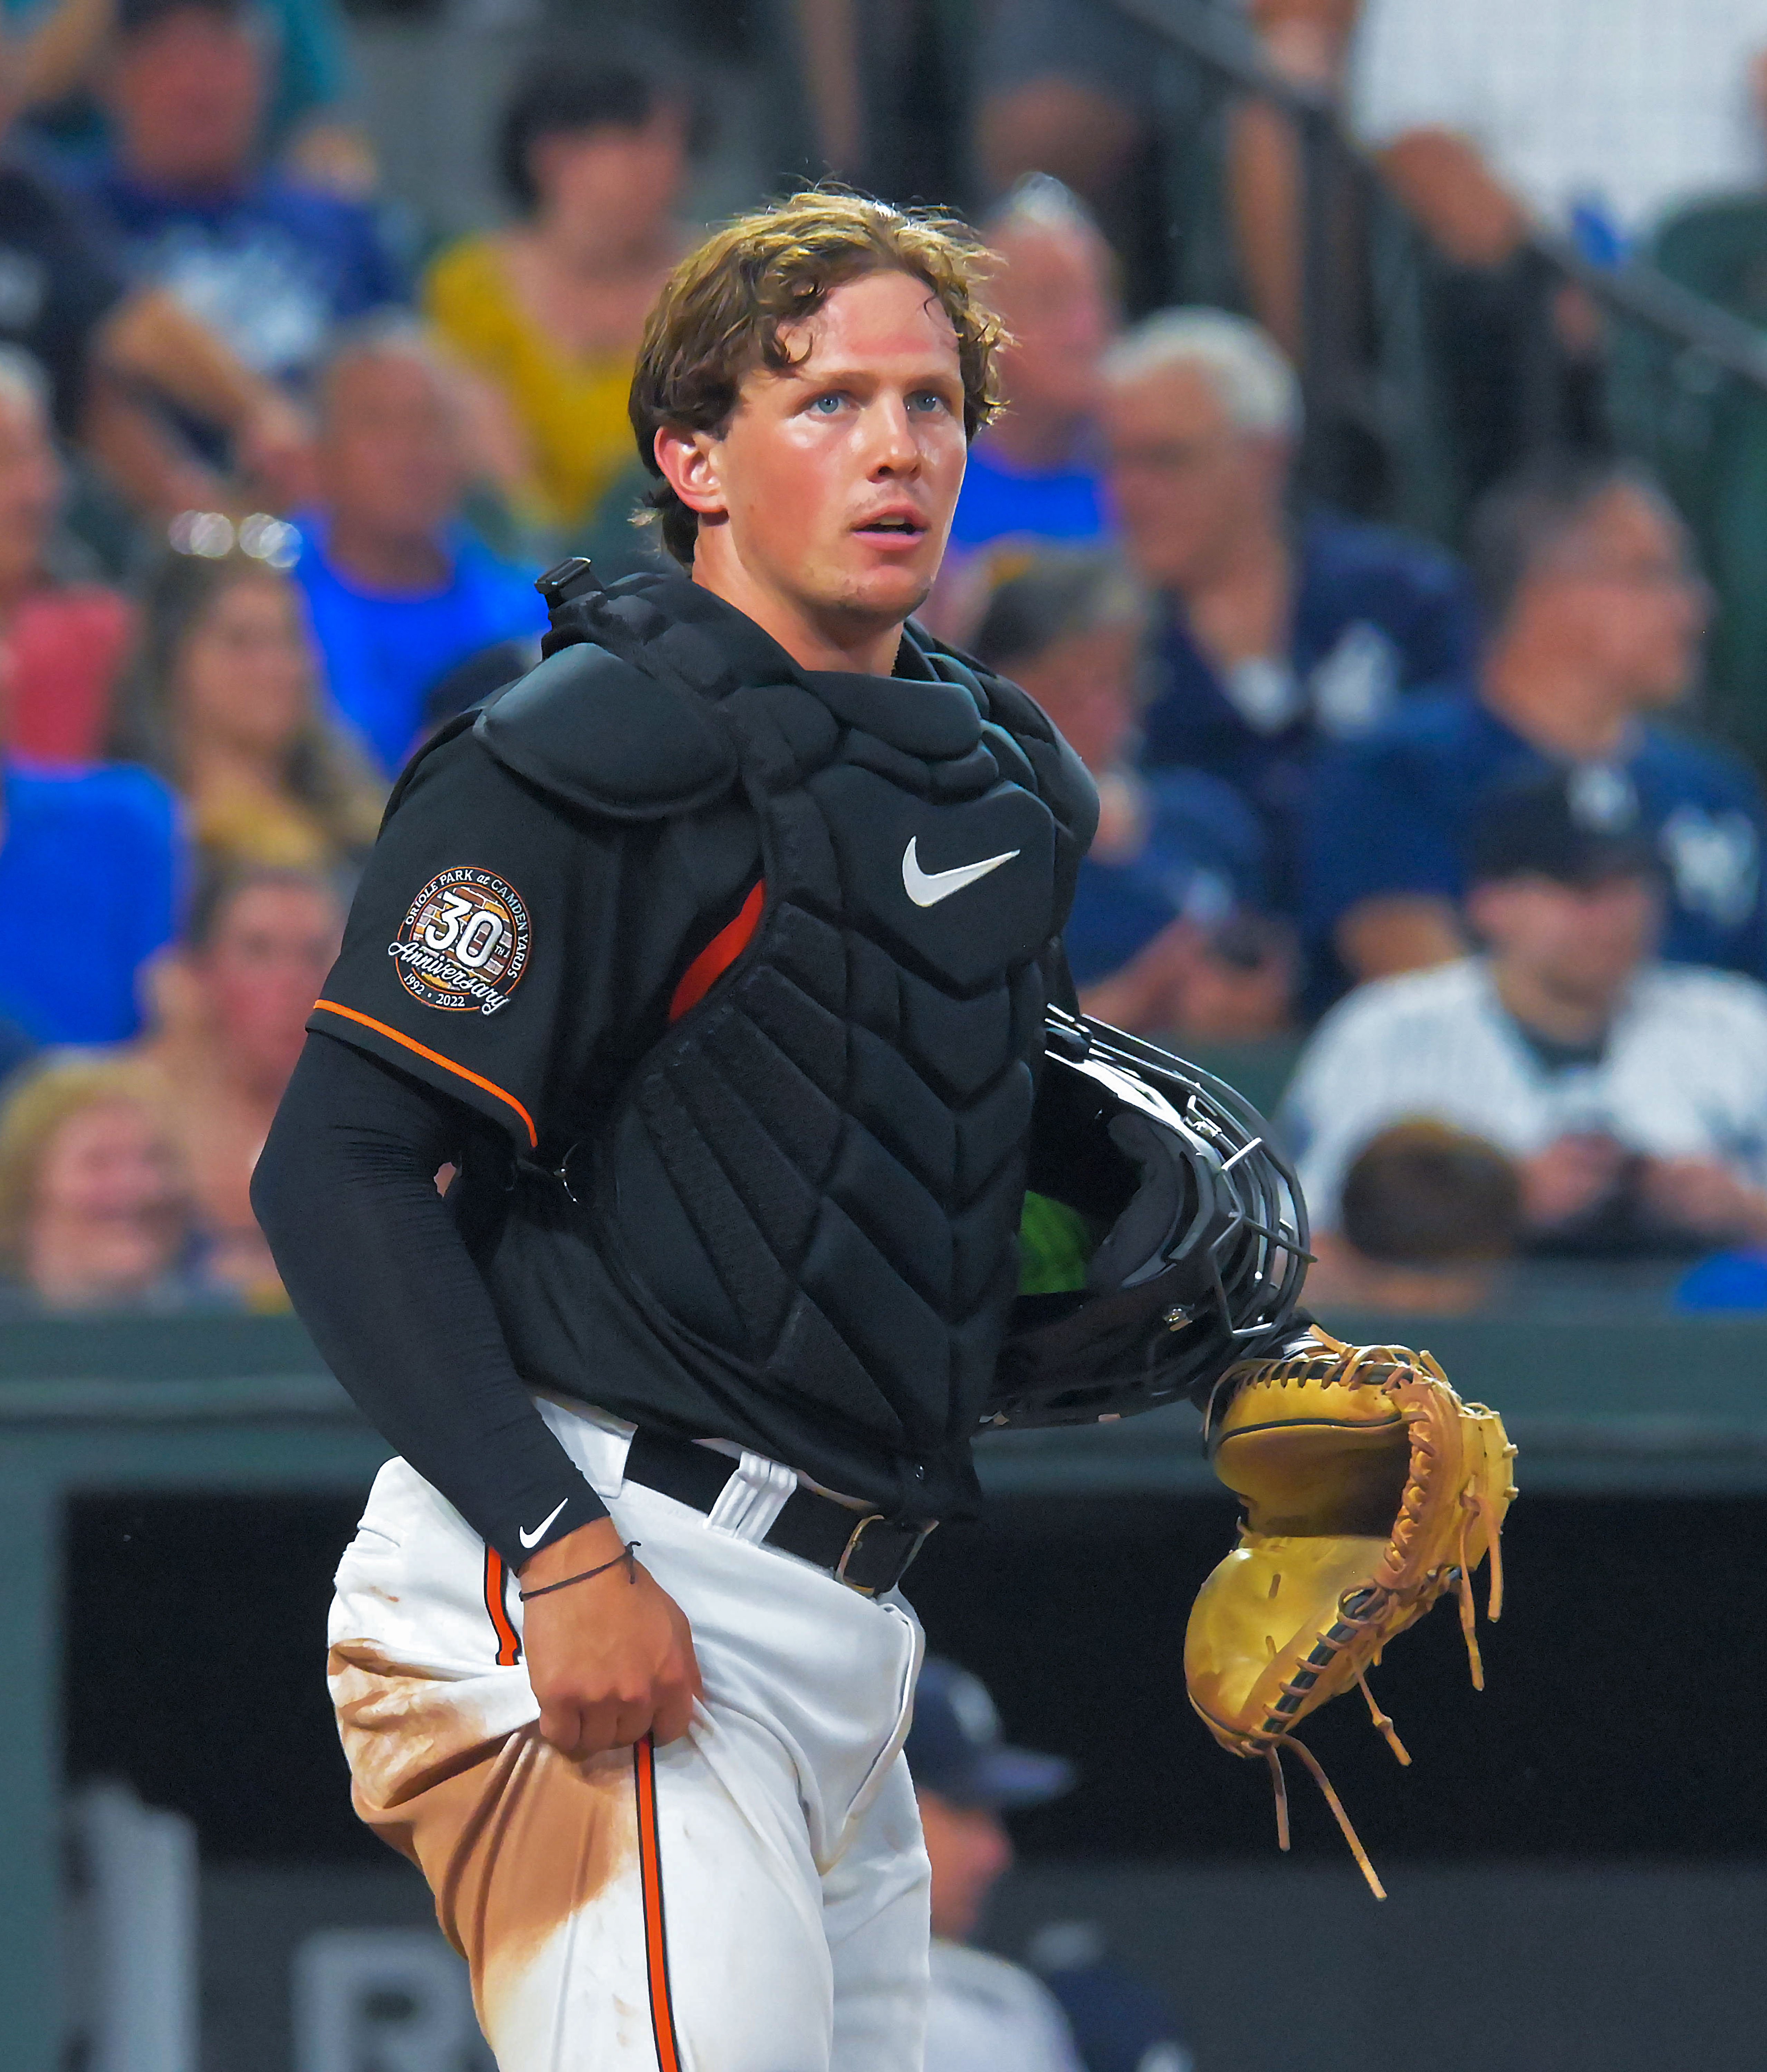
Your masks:
<svg viewBox="0 0 1767 2072"><path fill-rule="evenodd" d="M905 628L996 338L961 234L853 197L682 263L632 416L692 580L566 564L551 655L410 767L257 1169L404 1457L331 1616L356 1807L431 1879L503 2072L922 2062L895 1583L974 1513L980 1419L1085 1392L1083 1345L1015 1339L994 1407L1032 1154L1085 1138L1034 1098L1096 794ZM1112 1129L1117 1167L1170 1156ZM1208 1129L1210 1200L1268 1183L1179 1214L1214 1278L1119 1316L1131 1390L1286 1330L1284 1175ZM1150 1247L1114 1237L1088 1285L1123 1295ZM1218 1258L1249 1324L1208 1310Z"/></svg>

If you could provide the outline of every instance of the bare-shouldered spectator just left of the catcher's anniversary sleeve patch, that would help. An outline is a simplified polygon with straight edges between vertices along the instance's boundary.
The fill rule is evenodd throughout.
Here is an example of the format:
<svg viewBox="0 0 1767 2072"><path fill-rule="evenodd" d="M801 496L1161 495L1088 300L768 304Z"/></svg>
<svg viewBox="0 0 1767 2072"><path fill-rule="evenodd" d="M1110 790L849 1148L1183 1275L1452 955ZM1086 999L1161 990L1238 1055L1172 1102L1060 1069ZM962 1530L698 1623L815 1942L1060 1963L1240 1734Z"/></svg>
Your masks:
<svg viewBox="0 0 1767 2072"><path fill-rule="evenodd" d="M135 1053L189 1175L211 1278L255 1305L280 1301L280 1283L251 1171L342 934L342 901L313 872L209 872L160 988L162 1024Z"/></svg>

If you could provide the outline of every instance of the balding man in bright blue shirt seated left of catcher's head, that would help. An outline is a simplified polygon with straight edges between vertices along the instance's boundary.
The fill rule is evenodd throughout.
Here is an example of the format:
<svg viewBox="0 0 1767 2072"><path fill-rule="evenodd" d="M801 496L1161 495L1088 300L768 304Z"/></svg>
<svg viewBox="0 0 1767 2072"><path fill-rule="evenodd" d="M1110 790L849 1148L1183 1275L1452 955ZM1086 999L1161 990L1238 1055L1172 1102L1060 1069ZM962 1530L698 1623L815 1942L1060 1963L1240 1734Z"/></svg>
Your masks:
<svg viewBox="0 0 1767 2072"><path fill-rule="evenodd" d="M392 775L458 663L545 630L526 574L460 516L472 462L460 381L408 319L369 319L319 383L319 503L298 514L331 700Z"/></svg>

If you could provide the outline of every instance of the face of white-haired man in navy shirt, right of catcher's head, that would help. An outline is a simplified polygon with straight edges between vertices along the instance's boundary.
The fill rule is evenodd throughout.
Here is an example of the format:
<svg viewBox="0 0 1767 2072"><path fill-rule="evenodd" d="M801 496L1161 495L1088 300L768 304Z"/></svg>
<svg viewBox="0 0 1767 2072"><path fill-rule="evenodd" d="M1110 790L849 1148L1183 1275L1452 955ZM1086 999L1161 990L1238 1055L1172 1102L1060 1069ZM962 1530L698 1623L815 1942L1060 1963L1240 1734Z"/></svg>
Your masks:
<svg viewBox="0 0 1767 2072"><path fill-rule="evenodd" d="M1195 367L1156 367L1104 394L1110 501L1135 574L1183 595L1247 535L1280 524L1288 448L1237 431Z"/></svg>

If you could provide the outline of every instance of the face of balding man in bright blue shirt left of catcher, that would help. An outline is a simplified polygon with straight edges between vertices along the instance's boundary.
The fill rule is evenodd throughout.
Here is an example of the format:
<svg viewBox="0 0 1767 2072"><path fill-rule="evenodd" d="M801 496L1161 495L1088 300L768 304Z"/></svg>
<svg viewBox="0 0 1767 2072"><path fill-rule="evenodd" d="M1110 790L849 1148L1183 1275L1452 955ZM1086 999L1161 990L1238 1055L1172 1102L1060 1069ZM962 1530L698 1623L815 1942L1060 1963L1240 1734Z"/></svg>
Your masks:
<svg viewBox="0 0 1767 2072"><path fill-rule="evenodd" d="M466 489L460 402L418 352L371 352L329 381L319 489L331 516L392 539L431 537Z"/></svg>

